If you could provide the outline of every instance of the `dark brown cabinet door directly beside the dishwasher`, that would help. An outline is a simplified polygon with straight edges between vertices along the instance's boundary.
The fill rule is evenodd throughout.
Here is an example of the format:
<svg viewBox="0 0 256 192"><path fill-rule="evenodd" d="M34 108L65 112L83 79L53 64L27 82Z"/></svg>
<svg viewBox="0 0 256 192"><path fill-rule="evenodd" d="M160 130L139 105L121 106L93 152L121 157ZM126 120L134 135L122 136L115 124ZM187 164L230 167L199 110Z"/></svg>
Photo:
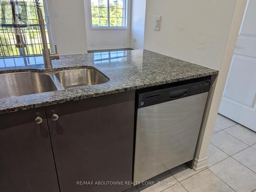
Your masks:
<svg viewBox="0 0 256 192"><path fill-rule="evenodd" d="M46 108L61 192L131 187L95 182L132 181L134 97L131 91Z"/></svg>

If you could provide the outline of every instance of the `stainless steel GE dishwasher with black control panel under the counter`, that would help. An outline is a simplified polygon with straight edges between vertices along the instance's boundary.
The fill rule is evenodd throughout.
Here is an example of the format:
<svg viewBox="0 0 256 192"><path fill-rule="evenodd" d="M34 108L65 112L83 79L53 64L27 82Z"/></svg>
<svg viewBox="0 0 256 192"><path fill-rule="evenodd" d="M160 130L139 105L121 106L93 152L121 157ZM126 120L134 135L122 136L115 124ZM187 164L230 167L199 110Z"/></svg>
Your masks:
<svg viewBox="0 0 256 192"><path fill-rule="evenodd" d="M137 92L134 182L194 158L210 80Z"/></svg>

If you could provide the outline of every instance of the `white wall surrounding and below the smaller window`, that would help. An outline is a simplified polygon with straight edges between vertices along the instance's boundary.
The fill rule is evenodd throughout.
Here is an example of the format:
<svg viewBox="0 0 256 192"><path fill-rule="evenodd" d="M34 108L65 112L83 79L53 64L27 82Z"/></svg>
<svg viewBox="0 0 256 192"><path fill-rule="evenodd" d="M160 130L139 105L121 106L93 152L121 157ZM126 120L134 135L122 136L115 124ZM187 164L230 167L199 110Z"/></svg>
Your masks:
<svg viewBox="0 0 256 192"><path fill-rule="evenodd" d="M130 1L128 3L130 11ZM130 18L129 29L91 29L90 0L84 0L86 13L86 33L88 50L119 49L130 47Z"/></svg>

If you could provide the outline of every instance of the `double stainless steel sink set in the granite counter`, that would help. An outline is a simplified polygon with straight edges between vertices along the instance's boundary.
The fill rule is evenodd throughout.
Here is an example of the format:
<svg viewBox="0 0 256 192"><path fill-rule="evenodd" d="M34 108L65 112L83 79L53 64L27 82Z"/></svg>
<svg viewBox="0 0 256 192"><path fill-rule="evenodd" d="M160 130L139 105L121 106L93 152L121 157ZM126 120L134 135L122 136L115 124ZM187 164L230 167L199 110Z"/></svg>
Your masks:
<svg viewBox="0 0 256 192"><path fill-rule="evenodd" d="M96 85L110 80L96 69L81 68L49 73L20 72L0 74L0 99L28 94Z"/></svg>

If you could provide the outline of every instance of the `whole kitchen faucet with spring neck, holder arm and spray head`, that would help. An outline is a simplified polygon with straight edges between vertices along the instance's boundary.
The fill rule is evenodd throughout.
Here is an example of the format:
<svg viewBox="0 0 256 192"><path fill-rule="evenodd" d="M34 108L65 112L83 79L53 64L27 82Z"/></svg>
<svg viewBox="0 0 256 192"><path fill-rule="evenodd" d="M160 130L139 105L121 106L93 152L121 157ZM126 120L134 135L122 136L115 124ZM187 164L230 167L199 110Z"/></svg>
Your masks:
<svg viewBox="0 0 256 192"><path fill-rule="evenodd" d="M13 0L11 1L12 5L12 13L14 18L14 25L13 27L16 29L27 27L27 25L20 25L17 23L17 18L15 17L15 4ZM44 63L45 68L47 70L52 69L52 60L53 59L59 59L59 54L57 53L57 45L54 46L55 53L51 53L50 49L47 45L47 37L46 37L46 30L45 30L45 21L44 17L42 16L42 10L40 8L39 0L35 0L35 6L36 6L36 12L38 17L38 23L37 24L31 24L30 27L39 26L40 27L40 34L41 34L41 40L42 40L42 56L44 57ZM23 40L23 35L18 33L15 34L16 36L16 47L18 48L24 48L26 47L26 43Z"/></svg>

